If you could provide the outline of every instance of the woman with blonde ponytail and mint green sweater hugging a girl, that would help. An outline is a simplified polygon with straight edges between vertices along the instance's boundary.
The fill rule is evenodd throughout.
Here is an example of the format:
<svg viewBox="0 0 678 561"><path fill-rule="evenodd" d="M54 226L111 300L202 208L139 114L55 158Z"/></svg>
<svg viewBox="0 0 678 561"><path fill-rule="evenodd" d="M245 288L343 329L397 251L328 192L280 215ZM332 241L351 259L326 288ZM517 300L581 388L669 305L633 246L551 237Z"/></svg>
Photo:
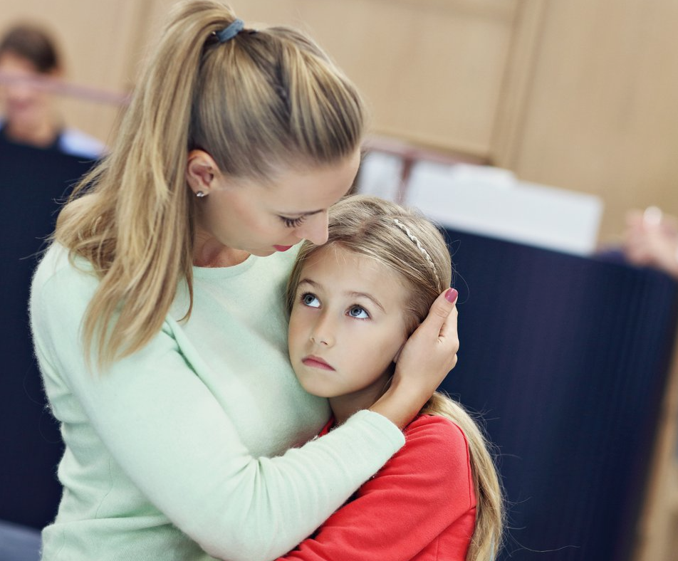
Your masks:
<svg viewBox="0 0 678 561"><path fill-rule="evenodd" d="M399 427L456 360L447 287L384 396L291 449L329 411L289 365L288 250L327 239L363 115L298 31L248 28L212 0L172 12L33 278L36 356L66 444L43 561L270 560L402 446Z"/></svg>

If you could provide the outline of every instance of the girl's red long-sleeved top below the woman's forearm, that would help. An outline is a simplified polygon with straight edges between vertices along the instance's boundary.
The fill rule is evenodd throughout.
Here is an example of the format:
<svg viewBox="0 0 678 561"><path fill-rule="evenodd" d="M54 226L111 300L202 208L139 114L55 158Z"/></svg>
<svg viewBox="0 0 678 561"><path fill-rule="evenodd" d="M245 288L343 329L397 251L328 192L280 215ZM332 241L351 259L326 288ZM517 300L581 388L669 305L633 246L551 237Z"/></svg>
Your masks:
<svg viewBox="0 0 678 561"><path fill-rule="evenodd" d="M466 438L439 416L415 419L405 437L355 500L278 561L409 561L465 517L436 557L463 561L476 504Z"/></svg>

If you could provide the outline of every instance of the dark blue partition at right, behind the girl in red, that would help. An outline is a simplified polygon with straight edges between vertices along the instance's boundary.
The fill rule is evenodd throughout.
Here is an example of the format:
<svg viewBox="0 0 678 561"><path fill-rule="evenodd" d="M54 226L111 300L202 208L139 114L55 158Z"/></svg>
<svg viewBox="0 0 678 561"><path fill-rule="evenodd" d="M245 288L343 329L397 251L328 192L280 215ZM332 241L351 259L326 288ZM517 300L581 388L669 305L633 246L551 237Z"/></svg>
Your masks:
<svg viewBox="0 0 678 561"><path fill-rule="evenodd" d="M677 320L655 271L447 231L459 363L508 498L502 560L627 561Z"/></svg>

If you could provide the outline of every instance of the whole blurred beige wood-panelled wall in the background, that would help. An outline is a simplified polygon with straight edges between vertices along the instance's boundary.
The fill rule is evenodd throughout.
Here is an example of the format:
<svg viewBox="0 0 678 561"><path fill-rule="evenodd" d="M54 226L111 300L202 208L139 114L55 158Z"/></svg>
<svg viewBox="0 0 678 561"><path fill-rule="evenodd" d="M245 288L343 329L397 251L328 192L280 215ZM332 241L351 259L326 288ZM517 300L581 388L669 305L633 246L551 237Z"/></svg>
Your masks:
<svg viewBox="0 0 678 561"><path fill-rule="evenodd" d="M18 18L46 23L61 37L69 80L125 92L171 4L0 0L0 26ZM365 93L373 132L507 167L526 181L598 194L603 242L618 238L632 207L657 204L678 214L677 0L231 5L250 26L309 31ZM63 112L107 140L117 109L63 100ZM670 418L675 401L667 403ZM674 433L662 436L666 458ZM678 512L672 470L672 463L657 464L639 559L670 558L665 537L674 534Z"/></svg>

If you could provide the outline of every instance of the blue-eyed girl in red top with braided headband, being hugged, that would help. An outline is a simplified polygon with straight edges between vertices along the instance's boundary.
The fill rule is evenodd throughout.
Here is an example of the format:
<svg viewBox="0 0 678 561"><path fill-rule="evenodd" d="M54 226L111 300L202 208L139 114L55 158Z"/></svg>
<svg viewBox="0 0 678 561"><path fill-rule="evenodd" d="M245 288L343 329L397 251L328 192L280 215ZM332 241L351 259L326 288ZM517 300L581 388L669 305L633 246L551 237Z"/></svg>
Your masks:
<svg viewBox="0 0 678 561"><path fill-rule="evenodd" d="M330 209L328 242L304 243L288 282L288 346L306 391L328 397L322 434L385 392L407 337L451 263L426 219L369 196ZM501 542L499 480L484 436L436 393L405 446L286 560L490 561Z"/></svg>

